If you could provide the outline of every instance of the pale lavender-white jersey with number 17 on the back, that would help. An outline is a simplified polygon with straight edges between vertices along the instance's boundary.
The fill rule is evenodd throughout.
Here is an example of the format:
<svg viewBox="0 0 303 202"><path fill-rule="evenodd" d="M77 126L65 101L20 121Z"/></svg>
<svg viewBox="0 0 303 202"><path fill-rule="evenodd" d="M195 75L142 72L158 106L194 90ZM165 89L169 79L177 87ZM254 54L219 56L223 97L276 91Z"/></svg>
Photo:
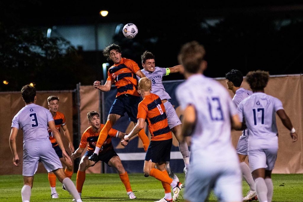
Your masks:
<svg viewBox="0 0 303 202"><path fill-rule="evenodd" d="M278 98L261 92L252 94L239 104L239 118L245 118L248 128L248 151L278 148L275 114L279 109L283 109L283 105Z"/></svg>

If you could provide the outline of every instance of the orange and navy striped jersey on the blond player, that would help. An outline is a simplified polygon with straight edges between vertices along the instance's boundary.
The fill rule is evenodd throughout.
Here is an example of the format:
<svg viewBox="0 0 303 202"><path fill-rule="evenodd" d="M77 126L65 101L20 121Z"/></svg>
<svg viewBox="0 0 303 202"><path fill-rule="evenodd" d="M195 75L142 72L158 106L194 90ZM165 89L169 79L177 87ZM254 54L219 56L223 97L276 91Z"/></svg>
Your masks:
<svg viewBox="0 0 303 202"><path fill-rule="evenodd" d="M165 107L156 94L145 95L138 105L138 118L147 118L151 140L168 140L172 138L168 126Z"/></svg>

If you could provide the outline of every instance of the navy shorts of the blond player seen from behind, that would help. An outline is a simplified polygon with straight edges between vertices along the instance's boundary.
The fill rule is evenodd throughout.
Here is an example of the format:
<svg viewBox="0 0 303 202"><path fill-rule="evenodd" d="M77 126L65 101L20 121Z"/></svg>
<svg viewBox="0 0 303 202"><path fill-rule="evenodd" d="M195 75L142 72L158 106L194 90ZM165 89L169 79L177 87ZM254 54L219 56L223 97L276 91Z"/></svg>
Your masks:
<svg viewBox="0 0 303 202"><path fill-rule="evenodd" d="M170 161L172 138L169 140L151 141L145 155L145 161L153 163Z"/></svg>

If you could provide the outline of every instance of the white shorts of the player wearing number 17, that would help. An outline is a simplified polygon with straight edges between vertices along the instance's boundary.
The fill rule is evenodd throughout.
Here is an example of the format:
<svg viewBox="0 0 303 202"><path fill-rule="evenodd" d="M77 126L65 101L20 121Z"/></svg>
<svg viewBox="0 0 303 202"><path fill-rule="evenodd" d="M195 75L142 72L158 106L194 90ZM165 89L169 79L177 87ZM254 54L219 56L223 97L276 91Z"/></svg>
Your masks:
<svg viewBox="0 0 303 202"><path fill-rule="evenodd" d="M277 160L278 148L275 149L256 149L248 151L249 167L251 172L259 168L272 171Z"/></svg>

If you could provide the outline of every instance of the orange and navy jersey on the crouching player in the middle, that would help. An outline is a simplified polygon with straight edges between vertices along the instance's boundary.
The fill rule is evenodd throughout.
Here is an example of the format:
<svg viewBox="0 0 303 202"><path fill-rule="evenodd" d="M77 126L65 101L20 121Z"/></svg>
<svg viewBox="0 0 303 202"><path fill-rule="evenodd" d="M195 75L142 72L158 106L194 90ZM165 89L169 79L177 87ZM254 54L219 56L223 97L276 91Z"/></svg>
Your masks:
<svg viewBox="0 0 303 202"><path fill-rule="evenodd" d="M101 130L104 126L105 126L104 124L100 124ZM119 135L119 131L112 128L108 132L106 140L104 141L104 143L99 151L99 154L109 151L111 149L114 149L114 147L112 145L112 137L118 137L118 135ZM99 137L99 132L95 133L92 129L92 126L88 127L82 134L79 147L85 148L88 143L87 150L94 152L96 145L97 145L98 137Z"/></svg>

